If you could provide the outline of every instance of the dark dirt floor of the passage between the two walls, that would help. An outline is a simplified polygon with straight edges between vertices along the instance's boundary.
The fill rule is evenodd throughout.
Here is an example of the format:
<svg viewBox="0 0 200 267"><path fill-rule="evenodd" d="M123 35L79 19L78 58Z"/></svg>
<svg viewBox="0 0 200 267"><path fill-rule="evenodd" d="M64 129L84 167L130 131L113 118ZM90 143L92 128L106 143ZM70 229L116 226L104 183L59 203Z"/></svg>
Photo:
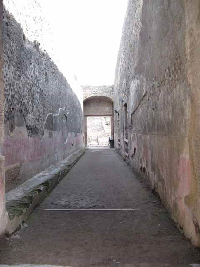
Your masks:
<svg viewBox="0 0 200 267"><path fill-rule="evenodd" d="M137 210L45 211L101 208ZM34 210L25 227L1 244L0 263L190 266L200 263L200 253L115 150L93 148Z"/></svg>

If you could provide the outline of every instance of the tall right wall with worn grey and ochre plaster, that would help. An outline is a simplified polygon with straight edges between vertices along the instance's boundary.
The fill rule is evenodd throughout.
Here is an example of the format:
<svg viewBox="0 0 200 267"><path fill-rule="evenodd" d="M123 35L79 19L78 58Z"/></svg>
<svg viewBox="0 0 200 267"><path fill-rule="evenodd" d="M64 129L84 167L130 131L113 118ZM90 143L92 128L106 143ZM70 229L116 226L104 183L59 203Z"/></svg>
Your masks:
<svg viewBox="0 0 200 267"><path fill-rule="evenodd" d="M114 83L115 147L200 246L200 6L129 0ZM118 142L120 143L118 147Z"/></svg>

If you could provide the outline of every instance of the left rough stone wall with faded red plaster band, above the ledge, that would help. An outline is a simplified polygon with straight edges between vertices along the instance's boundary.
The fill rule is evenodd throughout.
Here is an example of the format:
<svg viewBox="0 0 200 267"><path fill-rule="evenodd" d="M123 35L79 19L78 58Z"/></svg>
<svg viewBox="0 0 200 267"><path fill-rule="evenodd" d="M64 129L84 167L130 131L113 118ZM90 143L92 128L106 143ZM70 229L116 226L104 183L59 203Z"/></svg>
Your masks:
<svg viewBox="0 0 200 267"><path fill-rule="evenodd" d="M5 0L4 5L2 154L9 191L83 147L83 113L81 87L77 96L47 53L50 46L44 50L52 43L37 1Z"/></svg>

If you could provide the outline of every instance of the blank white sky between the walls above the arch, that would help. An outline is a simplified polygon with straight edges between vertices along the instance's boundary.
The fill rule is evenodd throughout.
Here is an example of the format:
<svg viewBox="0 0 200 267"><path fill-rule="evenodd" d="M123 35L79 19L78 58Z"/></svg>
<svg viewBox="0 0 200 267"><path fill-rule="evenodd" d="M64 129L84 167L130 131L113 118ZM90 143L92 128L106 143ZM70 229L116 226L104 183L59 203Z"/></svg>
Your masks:
<svg viewBox="0 0 200 267"><path fill-rule="evenodd" d="M111 85L127 0L40 0L62 69L80 84Z"/></svg>

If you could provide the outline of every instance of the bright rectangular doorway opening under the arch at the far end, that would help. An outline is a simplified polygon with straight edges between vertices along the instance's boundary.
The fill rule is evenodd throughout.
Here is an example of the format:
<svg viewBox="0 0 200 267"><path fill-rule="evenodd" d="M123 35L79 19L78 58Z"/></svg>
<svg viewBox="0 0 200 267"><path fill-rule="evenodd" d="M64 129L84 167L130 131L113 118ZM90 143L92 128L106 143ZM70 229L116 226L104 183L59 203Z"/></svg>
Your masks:
<svg viewBox="0 0 200 267"><path fill-rule="evenodd" d="M111 116L87 117L88 146L109 146L111 138Z"/></svg>

